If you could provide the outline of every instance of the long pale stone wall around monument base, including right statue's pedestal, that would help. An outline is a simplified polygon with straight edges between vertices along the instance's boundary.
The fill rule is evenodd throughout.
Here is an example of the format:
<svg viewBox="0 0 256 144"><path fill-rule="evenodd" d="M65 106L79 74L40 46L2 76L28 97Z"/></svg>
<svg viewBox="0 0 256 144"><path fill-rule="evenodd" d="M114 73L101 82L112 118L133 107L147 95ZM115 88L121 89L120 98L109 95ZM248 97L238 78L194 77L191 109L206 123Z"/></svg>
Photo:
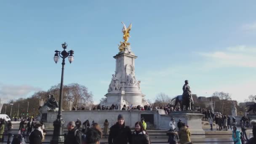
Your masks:
<svg viewBox="0 0 256 144"><path fill-rule="evenodd" d="M56 120L58 112L47 112L47 123L53 123ZM204 134L202 128L202 117L200 112L172 112L171 115L163 115L163 109L155 111L126 111L126 110L78 110L78 111L62 111L62 119L65 125L69 121L76 121L77 118L83 123L85 120L89 120L90 123L94 120L95 123L103 128L104 121L107 119L109 127L117 123L117 116L122 114L125 117L125 125L134 128L134 124L137 121L141 121L141 117L145 118L145 121L150 129L168 130L171 118L176 121L176 127L179 119L189 126L189 129L193 134ZM202 136L200 136L202 138Z"/></svg>

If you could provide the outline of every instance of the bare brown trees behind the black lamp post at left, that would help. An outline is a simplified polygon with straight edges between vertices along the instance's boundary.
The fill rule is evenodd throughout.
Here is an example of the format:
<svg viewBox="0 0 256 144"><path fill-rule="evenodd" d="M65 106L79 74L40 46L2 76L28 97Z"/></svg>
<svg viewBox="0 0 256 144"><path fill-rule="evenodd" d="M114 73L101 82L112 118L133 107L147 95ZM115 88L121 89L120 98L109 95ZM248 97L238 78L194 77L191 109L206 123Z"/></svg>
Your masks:
<svg viewBox="0 0 256 144"><path fill-rule="evenodd" d="M40 100L46 101L47 96L51 94L54 95L55 100L59 103L60 84L51 86L51 88L47 91L37 91L28 98L19 98L17 100L13 100L12 116L27 116L27 109L28 116L36 116L38 114ZM78 107L84 105L86 108L88 105L93 104L93 94L88 91L87 87L78 83L63 85L62 109L69 110L68 101L70 100L73 101L73 105L77 105ZM3 104L1 114L5 113L6 106L6 114L10 115L10 102L11 101L9 101L8 104Z"/></svg>

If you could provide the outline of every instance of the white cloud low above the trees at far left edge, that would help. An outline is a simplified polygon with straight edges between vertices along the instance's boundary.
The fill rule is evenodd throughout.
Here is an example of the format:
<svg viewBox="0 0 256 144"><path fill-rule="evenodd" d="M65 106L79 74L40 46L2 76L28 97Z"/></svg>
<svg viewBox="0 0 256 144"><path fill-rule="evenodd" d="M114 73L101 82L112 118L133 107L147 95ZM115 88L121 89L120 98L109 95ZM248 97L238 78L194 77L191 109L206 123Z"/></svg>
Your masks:
<svg viewBox="0 0 256 144"><path fill-rule="evenodd" d="M8 102L11 99L15 100L27 97L29 93L40 90L40 88L35 88L29 85L4 85L1 83L0 98L3 98L4 102Z"/></svg>

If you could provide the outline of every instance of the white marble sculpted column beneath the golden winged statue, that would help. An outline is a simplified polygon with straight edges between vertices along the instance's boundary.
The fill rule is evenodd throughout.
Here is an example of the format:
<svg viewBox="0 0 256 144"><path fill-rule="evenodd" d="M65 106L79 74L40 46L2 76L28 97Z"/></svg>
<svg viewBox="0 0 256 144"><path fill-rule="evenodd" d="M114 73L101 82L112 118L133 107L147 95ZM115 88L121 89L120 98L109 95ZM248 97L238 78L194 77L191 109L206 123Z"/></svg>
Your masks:
<svg viewBox="0 0 256 144"><path fill-rule="evenodd" d="M144 106L144 94L141 93L140 83L135 77L135 59L137 56L131 51L119 52L114 56L116 59L115 74L109 84L107 102L105 106L117 104L119 109L125 104L126 107L141 105Z"/></svg>

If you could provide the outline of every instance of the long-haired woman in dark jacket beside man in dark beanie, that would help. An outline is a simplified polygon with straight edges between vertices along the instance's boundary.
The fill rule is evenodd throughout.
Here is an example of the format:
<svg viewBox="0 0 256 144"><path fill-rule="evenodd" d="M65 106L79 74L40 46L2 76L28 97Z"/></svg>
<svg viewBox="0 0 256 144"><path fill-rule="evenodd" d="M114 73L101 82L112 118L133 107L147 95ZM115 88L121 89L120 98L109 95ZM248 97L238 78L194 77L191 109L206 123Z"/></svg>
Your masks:
<svg viewBox="0 0 256 144"><path fill-rule="evenodd" d="M150 144L149 135L144 131L141 122L135 123L135 131L133 131L131 136L131 144Z"/></svg>

